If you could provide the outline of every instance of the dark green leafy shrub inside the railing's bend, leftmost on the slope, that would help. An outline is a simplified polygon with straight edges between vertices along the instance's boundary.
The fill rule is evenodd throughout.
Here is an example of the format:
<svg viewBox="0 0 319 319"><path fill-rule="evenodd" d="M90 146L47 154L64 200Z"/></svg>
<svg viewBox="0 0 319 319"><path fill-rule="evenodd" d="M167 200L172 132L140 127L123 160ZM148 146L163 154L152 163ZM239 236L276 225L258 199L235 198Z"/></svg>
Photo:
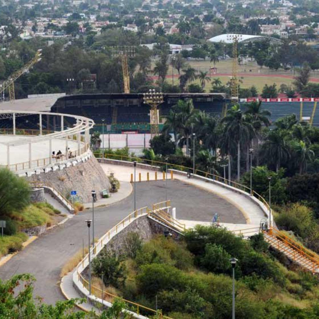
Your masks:
<svg viewBox="0 0 319 319"><path fill-rule="evenodd" d="M125 264L115 254L108 250L102 250L100 255L92 262L93 273L100 277L103 274L105 286L119 288L125 283Z"/></svg>

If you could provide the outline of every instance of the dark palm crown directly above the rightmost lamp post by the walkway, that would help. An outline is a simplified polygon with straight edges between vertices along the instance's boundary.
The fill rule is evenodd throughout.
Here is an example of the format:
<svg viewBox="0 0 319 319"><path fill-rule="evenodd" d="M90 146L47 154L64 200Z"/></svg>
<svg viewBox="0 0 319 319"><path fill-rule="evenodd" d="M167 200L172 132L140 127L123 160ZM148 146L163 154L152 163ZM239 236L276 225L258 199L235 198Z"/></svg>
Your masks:
<svg viewBox="0 0 319 319"><path fill-rule="evenodd" d="M276 172L278 172L280 163L290 158L286 132L278 129L270 131L265 143L262 145L261 153L268 167L275 166Z"/></svg>

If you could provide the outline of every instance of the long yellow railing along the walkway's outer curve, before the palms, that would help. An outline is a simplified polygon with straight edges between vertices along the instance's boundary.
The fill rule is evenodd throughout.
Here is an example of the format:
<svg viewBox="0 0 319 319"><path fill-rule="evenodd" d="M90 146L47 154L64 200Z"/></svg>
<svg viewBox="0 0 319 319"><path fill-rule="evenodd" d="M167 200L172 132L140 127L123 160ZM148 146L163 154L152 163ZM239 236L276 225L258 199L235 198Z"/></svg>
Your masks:
<svg viewBox="0 0 319 319"><path fill-rule="evenodd" d="M102 158L102 154L100 154L100 153L94 153L94 156L96 158ZM108 153L104 153L104 158L126 160L126 161L130 161L130 162L137 161L137 163L146 162L149 165L160 165L160 166L166 165L166 162L155 161L155 160L151 160L151 159L141 159L139 157L130 157L130 156L125 156L125 155L108 154ZM173 167L174 169L182 171L182 172L186 172L186 171L193 172L193 168L191 168L191 167L186 167L186 166L171 164L171 163L167 163L167 166L169 168ZM230 180L228 180L224 177L221 177L219 175L216 175L216 174L204 172L204 171L199 170L199 169L195 170L195 174L202 175L204 177L208 177L212 180L216 180L217 182L222 182L226 185L232 186L232 187L237 188L237 189L241 189L241 190L245 191L246 193L249 193L250 195L258 198L258 200L261 201L269 210L269 204L267 203L267 201L261 195L259 195L257 192L255 192L254 190L251 190L248 186L242 185L242 184L234 182L234 181L230 181Z"/></svg>

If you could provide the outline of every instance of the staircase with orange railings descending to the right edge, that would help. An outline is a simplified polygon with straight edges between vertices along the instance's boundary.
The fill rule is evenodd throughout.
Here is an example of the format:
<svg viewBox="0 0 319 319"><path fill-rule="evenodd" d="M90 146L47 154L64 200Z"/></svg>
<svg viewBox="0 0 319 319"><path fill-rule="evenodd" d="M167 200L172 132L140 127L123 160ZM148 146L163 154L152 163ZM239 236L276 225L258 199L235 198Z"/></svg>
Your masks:
<svg viewBox="0 0 319 319"><path fill-rule="evenodd" d="M319 273L319 256L313 251L304 248L298 242L276 229L271 229L268 233L264 232L263 235L264 240L273 249L281 251L287 258L313 274Z"/></svg>

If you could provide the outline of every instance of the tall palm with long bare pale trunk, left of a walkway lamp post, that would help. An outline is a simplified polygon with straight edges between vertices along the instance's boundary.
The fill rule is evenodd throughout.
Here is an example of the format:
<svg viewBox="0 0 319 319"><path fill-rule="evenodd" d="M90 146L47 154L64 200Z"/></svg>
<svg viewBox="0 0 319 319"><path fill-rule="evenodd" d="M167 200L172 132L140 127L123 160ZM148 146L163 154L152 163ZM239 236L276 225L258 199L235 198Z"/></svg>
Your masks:
<svg viewBox="0 0 319 319"><path fill-rule="evenodd" d="M233 138L237 144L237 180L239 181L241 144L247 143L247 141L254 136L254 128L252 124L246 120L238 104L227 111L227 115L221 122L226 124L224 134L229 138Z"/></svg>

